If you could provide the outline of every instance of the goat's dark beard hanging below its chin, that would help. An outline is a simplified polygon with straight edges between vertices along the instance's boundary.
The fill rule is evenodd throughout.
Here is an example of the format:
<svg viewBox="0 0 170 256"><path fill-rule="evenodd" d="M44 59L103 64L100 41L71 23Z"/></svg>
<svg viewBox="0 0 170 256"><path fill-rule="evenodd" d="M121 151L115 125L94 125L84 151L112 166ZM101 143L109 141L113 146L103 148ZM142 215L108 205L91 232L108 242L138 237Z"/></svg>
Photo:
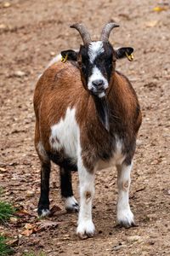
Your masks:
<svg viewBox="0 0 170 256"><path fill-rule="evenodd" d="M102 98L94 96L94 103L99 116L99 121L104 125L105 130L110 131L110 108L106 96Z"/></svg>

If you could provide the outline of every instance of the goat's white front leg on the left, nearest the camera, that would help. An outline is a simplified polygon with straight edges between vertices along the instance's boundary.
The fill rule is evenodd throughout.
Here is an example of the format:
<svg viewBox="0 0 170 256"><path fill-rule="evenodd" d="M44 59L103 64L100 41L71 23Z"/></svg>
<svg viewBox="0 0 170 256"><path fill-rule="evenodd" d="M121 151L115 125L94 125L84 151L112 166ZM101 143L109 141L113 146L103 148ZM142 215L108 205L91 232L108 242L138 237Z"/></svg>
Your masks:
<svg viewBox="0 0 170 256"><path fill-rule="evenodd" d="M80 211L78 215L77 235L82 239L94 236L92 221L92 200L94 198L94 172L88 172L83 166L81 157L78 159L80 186Z"/></svg>

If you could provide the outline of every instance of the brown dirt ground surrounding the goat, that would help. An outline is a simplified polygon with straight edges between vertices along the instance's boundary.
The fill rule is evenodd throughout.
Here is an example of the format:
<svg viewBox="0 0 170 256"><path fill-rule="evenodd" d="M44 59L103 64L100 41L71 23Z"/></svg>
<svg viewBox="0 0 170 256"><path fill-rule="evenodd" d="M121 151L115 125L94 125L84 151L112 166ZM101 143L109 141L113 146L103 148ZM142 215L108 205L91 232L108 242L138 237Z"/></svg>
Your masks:
<svg viewBox="0 0 170 256"><path fill-rule="evenodd" d="M162 5L164 3L164 5ZM156 6L165 10L154 11ZM0 231L19 237L16 255L42 251L46 255L170 255L170 5L151 0L13 0L0 1L0 186L3 200L30 212L20 224ZM94 238L75 235L77 214L66 214L59 195L57 166L51 178L50 218L57 227L31 236L20 235L26 223L37 221L40 165L34 149L32 96L37 77L62 49L77 49L77 21L99 38L102 26L115 20L115 46L133 46L134 61L117 61L117 69L132 81L139 96L143 124L135 154L130 204L137 227L116 227L116 170L96 173ZM77 173L73 187L78 198Z"/></svg>

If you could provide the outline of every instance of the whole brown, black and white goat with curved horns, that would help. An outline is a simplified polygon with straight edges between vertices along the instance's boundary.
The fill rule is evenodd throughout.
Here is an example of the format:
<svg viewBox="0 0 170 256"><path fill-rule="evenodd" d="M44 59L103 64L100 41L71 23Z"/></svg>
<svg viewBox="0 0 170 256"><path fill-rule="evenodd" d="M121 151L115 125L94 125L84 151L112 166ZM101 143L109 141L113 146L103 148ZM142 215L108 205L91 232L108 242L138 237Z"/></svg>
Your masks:
<svg viewBox="0 0 170 256"><path fill-rule="evenodd" d="M49 213L50 162L60 168L61 195L65 208L79 211L77 234L94 236L92 200L95 172L116 165L117 222L134 224L128 202L130 172L141 113L135 91L128 79L116 71L116 60L133 48L113 49L105 25L99 41L92 41L82 24L77 29L83 41L79 51L65 50L67 61L54 61L37 82L35 145L41 160L41 195L38 214ZM80 209L73 196L71 171L78 170Z"/></svg>

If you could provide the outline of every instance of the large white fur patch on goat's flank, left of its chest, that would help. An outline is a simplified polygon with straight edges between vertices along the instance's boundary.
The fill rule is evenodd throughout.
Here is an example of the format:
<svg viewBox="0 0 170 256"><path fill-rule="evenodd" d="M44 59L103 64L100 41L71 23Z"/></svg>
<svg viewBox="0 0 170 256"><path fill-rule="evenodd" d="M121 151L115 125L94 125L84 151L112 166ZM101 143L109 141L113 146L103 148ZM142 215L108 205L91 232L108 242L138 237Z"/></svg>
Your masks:
<svg viewBox="0 0 170 256"><path fill-rule="evenodd" d="M51 127L49 143L56 151L64 149L65 154L72 160L77 160L77 143L79 127L75 117L75 108L67 108L65 117Z"/></svg>

